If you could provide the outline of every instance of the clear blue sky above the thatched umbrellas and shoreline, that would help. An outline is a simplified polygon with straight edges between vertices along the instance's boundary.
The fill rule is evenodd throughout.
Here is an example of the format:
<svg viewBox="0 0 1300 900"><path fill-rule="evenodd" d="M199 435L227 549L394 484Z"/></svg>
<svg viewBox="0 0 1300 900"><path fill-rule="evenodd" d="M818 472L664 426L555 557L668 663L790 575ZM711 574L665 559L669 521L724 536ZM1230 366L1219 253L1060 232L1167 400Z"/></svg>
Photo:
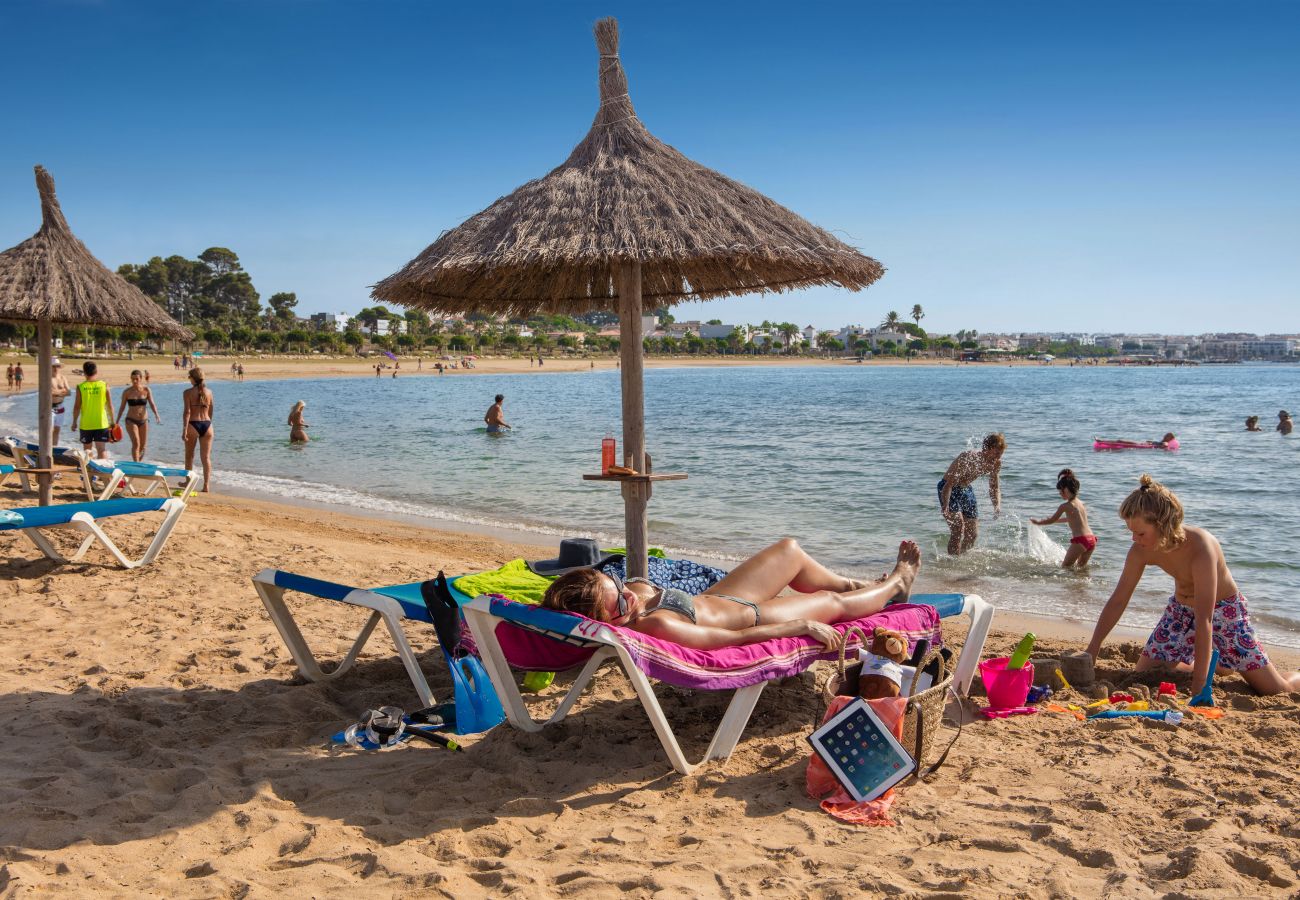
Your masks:
<svg viewBox="0 0 1300 900"><path fill-rule="evenodd" d="M368 286L590 126L590 26L688 156L888 272L679 319L1300 330L1300 4L0 0L0 248L31 166L109 267L239 254Z"/></svg>

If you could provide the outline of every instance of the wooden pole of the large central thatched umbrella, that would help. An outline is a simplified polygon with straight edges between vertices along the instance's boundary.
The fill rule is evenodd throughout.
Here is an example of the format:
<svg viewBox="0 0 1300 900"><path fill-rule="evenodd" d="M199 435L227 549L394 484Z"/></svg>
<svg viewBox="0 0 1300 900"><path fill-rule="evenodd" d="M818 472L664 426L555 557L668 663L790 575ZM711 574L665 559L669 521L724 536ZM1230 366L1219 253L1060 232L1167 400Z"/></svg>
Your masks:
<svg viewBox="0 0 1300 900"><path fill-rule="evenodd" d="M620 263L619 287L619 355L623 358L623 464L637 472L646 471L645 372L641 347L641 263ZM650 483L624 483L623 522L628 545L628 577L650 574L650 549L646 505Z"/></svg>

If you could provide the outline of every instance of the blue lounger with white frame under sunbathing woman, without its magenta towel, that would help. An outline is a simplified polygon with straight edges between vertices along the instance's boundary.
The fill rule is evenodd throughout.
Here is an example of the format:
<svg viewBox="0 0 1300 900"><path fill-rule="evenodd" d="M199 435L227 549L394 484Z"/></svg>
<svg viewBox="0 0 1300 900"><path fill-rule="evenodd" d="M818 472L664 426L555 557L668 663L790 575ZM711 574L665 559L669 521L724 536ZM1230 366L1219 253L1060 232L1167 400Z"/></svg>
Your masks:
<svg viewBox="0 0 1300 900"><path fill-rule="evenodd" d="M984 639L988 636L988 629L992 624L993 607L974 594L918 596L911 602L933 606L940 618L954 615L970 616L970 632L962 645L953 678L957 689L965 695L970 688L971 678L984 648ZM684 775L689 775L708 760L727 760L731 757L745 726L749 723L749 717L758 702L767 679L781 678L793 671L806 668L815 658L823 655L816 648L803 648L792 652L788 645L789 639L764 641L764 645L780 645L777 649L774 649L776 655L770 662L754 659L749 662L746 670L719 671L716 672L716 683L710 683L712 680L708 678L711 662L707 661L707 654L712 652L688 652L684 654L684 659L672 659L662 653L663 642L656 642L659 644L658 649L654 645L630 646L629 640L641 640L636 637L636 632L620 633L603 623L536 606L515 603L500 597L474 597L463 611L465 622L473 633L474 644L482 657L484 668L488 670L488 675L497 687L506 717L512 726L524 731L541 731L546 726L564 719L595 675L597 668L607 659L614 659L623 668L628 680L632 682L632 687L636 689L646 717L650 719L659 743L672 762L672 767ZM885 607L876 616L888 618L889 611L889 607ZM562 654L567 650L568 659L573 659L575 649L593 652L590 658L582 665L582 670L573 680L560 705L545 721L532 717L519 691L511 665L506 657L506 650L498 640L497 628L502 623L510 623L524 632L541 635L558 644L568 645L560 650ZM896 627L889 622L881 622L881 624ZM916 636L919 635L913 635L914 639ZM566 666L560 665L560 662L562 659L542 658L538 661L538 667L554 663L552 667L560 670L581 665L580 662L569 662ZM671 683L696 689L734 689L732 701L719 722L718 730L714 732L708 749L698 763L692 763L686 760L676 735L673 735L672 727L663 714L650 679L646 676L646 671L650 671L654 678L662 678ZM679 676L681 678L679 679Z"/></svg>

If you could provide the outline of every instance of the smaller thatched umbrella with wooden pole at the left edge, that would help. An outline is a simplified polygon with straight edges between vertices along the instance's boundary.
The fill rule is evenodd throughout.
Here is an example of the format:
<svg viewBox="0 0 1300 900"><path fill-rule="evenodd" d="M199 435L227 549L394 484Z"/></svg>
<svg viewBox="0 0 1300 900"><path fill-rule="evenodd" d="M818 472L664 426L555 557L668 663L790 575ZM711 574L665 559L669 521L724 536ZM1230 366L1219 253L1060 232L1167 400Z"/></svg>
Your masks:
<svg viewBox="0 0 1300 900"><path fill-rule="evenodd" d="M110 272L77 239L55 196L55 179L36 166L40 230L0 254L0 320L36 323L40 369L40 468L52 463L49 359L55 325L140 328L155 334L194 336L138 287ZM49 476L40 476L40 505L49 503Z"/></svg>

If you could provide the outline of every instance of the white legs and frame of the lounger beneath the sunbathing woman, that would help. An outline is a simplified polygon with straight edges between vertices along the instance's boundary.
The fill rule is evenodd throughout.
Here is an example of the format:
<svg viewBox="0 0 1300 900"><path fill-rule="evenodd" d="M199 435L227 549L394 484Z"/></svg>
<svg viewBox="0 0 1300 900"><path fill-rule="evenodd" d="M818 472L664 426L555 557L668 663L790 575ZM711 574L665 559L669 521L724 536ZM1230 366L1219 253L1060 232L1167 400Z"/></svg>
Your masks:
<svg viewBox="0 0 1300 900"><path fill-rule="evenodd" d="M692 774L710 760L725 761L731 758L741 734L745 731L745 726L749 724L749 717L758 704L758 697L763 693L763 688L767 684L766 682L759 682L758 684L736 691L731 704L727 706L727 711L723 714L722 722L718 724L718 730L714 732L712 740L708 743L708 749L705 750L705 756L699 762L692 763L686 760L686 754L682 752L676 735L672 732L672 727L668 724L667 717L663 714L663 708L659 705L659 698L655 696L650 679L632 661L616 632L602 626L592 629L589 633L581 635L581 637L575 635L563 636L563 640L568 642L588 644L599 649L582 666L568 693L560 700L560 705L551 713L550 718L534 719L528 710L528 705L524 702L519 685L515 683L514 672L510 663L506 662L500 644L497 641L497 624L506 619L491 613L491 598L484 596L474 597L462 611L464 613L465 622L469 624L469 631L474 636L474 644L482 658L484 668L488 670L488 675L497 688L497 695L506 708L506 718L510 719L512 726L523 731L541 731L549 724L560 722L573 709L573 704L577 702L578 696L592 682L597 668L607 659L615 659L623 668L623 674L632 683L633 689L636 689L637 697L641 700L641 706L645 709L650 724L654 726L655 735L658 735L659 743L663 744L664 753L668 754L672 767L682 775ZM953 683L957 691L965 696L970 691L971 679L975 675L980 654L984 649L984 640L988 637L988 629L993 623L993 607L982 597L966 594L961 615L970 616L971 624L966 641L962 644Z"/></svg>

